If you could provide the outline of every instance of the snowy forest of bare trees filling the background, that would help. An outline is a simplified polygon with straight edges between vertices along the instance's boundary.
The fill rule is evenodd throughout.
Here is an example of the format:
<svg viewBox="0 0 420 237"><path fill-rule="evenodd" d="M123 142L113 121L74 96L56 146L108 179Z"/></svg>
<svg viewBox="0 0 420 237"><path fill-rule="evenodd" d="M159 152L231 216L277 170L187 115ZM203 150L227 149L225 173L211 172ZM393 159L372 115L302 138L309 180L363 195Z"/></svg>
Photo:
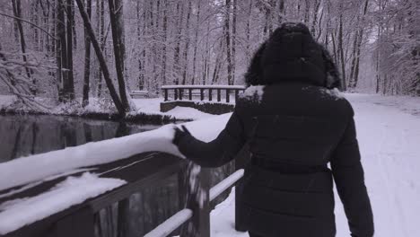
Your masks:
<svg viewBox="0 0 420 237"><path fill-rule="evenodd" d="M163 84L243 84L282 22L304 22L347 92L420 95L417 0L0 0L0 94L22 106L110 98Z"/></svg>

